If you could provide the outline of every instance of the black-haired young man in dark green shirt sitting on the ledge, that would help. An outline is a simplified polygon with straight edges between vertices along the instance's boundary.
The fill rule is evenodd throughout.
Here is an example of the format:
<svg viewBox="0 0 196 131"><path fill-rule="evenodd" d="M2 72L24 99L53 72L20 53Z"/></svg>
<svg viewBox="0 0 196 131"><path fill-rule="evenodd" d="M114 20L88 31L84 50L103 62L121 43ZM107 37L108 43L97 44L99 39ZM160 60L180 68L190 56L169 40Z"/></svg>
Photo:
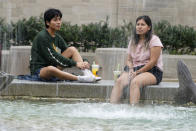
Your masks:
<svg viewBox="0 0 196 131"><path fill-rule="evenodd" d="M35 37L31 49L30 70L43 80L74 80L79 82L95 82L95 77L89 69L89 63L84 62L75 47L68 47L63 38L56 33L61 27L62 13L58 9L48 9L44 13L46 29ZM62 71L65 67L76 66L84 76L75 76Z"/></svg>

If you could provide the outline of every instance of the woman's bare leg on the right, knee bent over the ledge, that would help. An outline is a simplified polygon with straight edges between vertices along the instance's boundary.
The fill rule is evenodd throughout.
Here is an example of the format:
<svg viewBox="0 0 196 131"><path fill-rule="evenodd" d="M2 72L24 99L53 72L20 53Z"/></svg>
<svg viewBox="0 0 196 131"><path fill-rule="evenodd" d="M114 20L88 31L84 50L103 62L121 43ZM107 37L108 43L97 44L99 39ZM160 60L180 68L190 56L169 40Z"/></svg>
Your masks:
<svg viewBox="0 0 196 131"><path fill-rule="evenodd" d="M137 75L130 84L130 104L137 104L140 100L140 88L156 84L155 76L149 72Z"/></svg>

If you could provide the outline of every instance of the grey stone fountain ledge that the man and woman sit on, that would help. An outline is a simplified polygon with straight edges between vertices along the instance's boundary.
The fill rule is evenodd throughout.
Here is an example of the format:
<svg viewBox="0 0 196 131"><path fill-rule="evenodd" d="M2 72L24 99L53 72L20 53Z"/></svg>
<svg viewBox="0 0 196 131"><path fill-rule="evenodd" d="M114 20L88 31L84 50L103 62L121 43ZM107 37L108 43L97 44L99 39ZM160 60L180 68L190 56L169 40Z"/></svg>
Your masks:
<svg viewBox="0 0 196 131"><path fill-rule="evenodd" d="M113 80L78 83L15 79L6 89L0 92L0 99L107 102L113 85ZM147 86L142 91L141 99L144 101L173 101L178 87L177 82L161 82L159 85Z"/></svg>

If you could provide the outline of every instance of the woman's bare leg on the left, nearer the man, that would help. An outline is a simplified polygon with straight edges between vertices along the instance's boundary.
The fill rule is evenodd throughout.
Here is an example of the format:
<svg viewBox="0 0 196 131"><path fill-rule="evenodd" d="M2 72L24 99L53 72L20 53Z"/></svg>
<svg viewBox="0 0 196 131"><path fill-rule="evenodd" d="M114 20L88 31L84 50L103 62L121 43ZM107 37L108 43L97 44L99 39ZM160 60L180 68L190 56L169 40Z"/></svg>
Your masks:
<svg viewBox="0 0 196 131"><path fill-rule="evenodd" d="M128 79L128 73L123 72L123 74L116 80L116 83L112 89L112 93L110 96L110 102L111 103L119 103L120 98L122 96L123 88L128 85L129 79Z"/></svg>

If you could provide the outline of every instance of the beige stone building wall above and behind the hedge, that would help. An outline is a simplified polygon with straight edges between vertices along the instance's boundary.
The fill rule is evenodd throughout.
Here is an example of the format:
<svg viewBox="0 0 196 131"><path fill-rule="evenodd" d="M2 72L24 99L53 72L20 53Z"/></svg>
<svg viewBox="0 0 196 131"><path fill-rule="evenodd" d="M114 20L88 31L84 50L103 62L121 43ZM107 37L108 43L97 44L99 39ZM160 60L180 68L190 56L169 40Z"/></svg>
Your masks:
<svg viewBox="0 0 196 131"><path fill-rule="evenodd" d="M196 28L196 0L0 0L0 17L9 23L40 16L48 8L60 9L63 21L79 25L108 17L111 26L118 26L123 21L135 23L145 14L153 22L167 20Z"/></svg>

